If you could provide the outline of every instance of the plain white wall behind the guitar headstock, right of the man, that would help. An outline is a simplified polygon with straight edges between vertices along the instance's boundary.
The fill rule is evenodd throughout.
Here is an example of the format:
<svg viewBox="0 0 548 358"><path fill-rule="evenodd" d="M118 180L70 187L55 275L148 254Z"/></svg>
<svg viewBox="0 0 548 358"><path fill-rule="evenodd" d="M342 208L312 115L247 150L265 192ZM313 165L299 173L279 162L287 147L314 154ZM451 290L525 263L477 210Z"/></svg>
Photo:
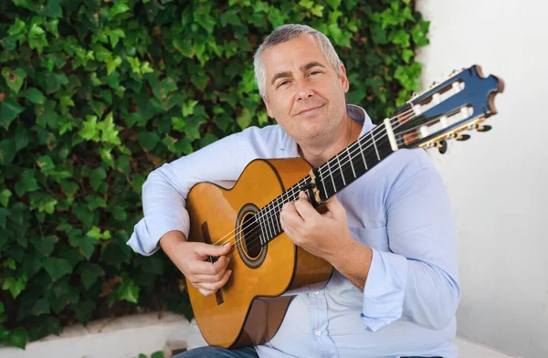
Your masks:
<svg viewBox="0 0 548 358"><path fill-rule="evenodd" d="M548 2L416 3L431 21L423 88L472 64L506 83L491 132L431 150L458 225L458 335L548 357Z"/></svg>

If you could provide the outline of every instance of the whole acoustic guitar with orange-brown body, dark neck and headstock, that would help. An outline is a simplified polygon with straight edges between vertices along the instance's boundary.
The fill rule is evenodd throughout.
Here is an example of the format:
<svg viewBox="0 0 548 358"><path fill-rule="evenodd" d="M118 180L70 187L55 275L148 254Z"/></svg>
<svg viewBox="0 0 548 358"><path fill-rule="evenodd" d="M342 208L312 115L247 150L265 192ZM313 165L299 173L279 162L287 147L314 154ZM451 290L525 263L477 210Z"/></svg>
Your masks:
<svg viewBox="0 0 548 358"><path fill-rule="evenodd" d="M463 132L486 132L495 114L494 97L503 81L484 78L479 66L454 71L441 84L415 95L404 106L327 163L312 168L295 159L258 159L235 186L196 184L187 198L189 240L233 246L232 276L205 297L187 280L195 320L210 345L237 348L268 342L278 331L290 300L320 290L332 266L295 246L279 224L282 205L306 191L318 210L322 203L402 148L437 147L465 141ZM210 258L213 262L215 258Z"/></svg>

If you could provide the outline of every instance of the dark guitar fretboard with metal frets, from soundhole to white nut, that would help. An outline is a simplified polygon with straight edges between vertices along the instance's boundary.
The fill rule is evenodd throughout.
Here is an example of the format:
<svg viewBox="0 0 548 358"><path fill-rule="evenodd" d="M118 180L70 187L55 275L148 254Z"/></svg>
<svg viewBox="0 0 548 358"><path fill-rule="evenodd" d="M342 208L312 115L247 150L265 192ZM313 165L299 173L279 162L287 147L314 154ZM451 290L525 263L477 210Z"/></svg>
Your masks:
<svg viewBox="0 0 548 358"><path fill-rule="evenodd" d="M342 191L348 184L367 173L391 153L393 151L386 137L385 126L381 125L365 133L356 142L320 167L314 168L312 172L316 177L315 183L320 193L321 202ZM258 211L256 218L261 231L261 245L265 245L283 232L279 224L281 207L286 203L296 201L303 190L302 187L309 187L310 184L311 177L309 175ZM318 205L317 203L312 204Z"/></svg>

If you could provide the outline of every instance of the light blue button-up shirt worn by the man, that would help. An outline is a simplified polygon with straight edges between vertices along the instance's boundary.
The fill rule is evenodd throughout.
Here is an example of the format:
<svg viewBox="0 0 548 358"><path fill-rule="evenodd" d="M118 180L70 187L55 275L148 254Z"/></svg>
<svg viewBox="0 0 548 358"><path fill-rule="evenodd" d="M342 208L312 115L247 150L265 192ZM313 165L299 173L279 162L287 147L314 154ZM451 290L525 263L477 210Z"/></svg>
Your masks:
<svg viewBox="0 0 548 358"><path fill-rule="evenodd" d="M362 134L374 125L347 106ZM188 236L185 198L199 182L236 181L256 158L298 157L278 125L253 127L163 164L142 186L144 217L128 241L151 255L163 234ZM353 237L373 249L364 291L339 272L292 300L276 336L256 347L278 357L457 357L460 299L456 230L445 186L421 149L398 150L337 194Z"/></svg>

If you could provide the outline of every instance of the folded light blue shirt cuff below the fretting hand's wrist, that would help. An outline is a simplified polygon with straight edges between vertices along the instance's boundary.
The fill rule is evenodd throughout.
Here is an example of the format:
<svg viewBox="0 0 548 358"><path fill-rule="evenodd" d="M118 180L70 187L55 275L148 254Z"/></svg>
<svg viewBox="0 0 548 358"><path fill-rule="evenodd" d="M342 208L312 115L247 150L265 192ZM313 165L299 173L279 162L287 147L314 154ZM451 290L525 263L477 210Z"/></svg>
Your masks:
<svg viewBox="0 0 548 358"><path fill-rule="evenodd" d="M374 248L364 287L362 321L369 332L377 332L402 316L407 283L407 259Z"/></svg>

